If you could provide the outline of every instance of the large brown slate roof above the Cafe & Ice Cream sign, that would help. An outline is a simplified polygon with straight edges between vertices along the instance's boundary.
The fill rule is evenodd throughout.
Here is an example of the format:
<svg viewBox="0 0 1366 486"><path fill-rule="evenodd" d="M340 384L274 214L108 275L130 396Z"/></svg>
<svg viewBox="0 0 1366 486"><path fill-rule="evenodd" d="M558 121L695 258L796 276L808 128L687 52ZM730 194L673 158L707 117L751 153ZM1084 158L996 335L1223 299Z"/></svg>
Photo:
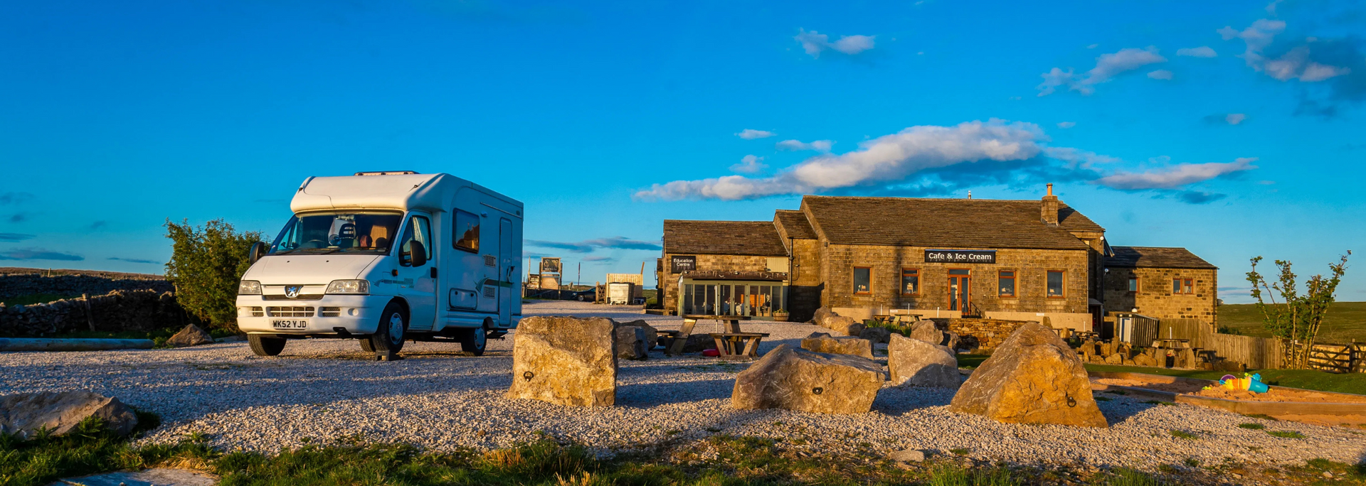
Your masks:
<svg viewBox="0 0 1366 486"><path fill-rule="evenodd" d="M802 205L833 244L1086 250L1071 231L1105 231L1064 203L1049 227L1041 201L807 195Z"/></svg>

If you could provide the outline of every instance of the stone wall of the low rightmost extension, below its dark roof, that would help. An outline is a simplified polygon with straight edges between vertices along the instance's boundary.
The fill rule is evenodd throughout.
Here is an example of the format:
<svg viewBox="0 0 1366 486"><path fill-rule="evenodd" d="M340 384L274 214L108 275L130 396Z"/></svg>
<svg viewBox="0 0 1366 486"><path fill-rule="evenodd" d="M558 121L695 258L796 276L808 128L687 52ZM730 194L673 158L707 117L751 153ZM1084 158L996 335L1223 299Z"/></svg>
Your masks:
<svg viewBox="0 0 1366 486"><path fill-rule="evenodd" d="M1138 292L1128 291L1128 278L1138 277ZM1172 280L1191 278L1195 294L1172 294ZM1216 326L1218 314L1218 270L1111 268L1105 273L1105 310L1156 317L1158 319L1199 319Z"/></svg>

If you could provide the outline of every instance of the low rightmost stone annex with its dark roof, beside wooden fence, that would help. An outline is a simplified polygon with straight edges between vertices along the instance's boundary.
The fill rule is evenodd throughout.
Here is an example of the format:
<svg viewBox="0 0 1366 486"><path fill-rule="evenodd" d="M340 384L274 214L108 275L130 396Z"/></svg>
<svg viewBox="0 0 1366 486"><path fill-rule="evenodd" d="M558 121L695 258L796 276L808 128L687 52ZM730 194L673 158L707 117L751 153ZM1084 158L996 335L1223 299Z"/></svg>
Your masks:
<svg viewBox="0 0 1366 486"><path fill-rule="evenodd" d="M1218 324L1218 268L1186 248L1112 247L1105 258L1105 309L1158 319Z"/></svg>

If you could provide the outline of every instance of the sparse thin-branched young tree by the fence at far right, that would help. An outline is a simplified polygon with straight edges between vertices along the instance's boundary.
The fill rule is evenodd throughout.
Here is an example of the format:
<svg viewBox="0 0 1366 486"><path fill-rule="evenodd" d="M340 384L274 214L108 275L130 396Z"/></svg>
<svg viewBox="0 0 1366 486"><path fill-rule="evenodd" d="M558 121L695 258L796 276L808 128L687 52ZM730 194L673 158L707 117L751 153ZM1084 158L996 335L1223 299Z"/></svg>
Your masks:
<svg viewBox="0 0 1366 486"><path fill-rule="evenodd" d="M1268 284L1261 273L1257 273L1257 263L1262 257L1251 259L1253 270L1247 272L1247 281L1253 284L1253 298L1257 299L1257 310L1262 313L1262 322L1273 336L1284 339L1287 364L1306 369L1309 367L1309 351L1318 339L1318 329L1328 314L1328 306L1335 300L1337 283L1347 272L1348 250L1337 263L1329 263L1330 277L1315 274L1305 280L1305 294L1299 294L1295 283L1295 272L1291 262L1277 259L1276 266L1280 276L1276 283ZM1265 294L1264 294L1265 292ZM1264 295L1270 299L1270 304L1264 300ZM1276 302L1280 295L1281 302Z"/></svg>

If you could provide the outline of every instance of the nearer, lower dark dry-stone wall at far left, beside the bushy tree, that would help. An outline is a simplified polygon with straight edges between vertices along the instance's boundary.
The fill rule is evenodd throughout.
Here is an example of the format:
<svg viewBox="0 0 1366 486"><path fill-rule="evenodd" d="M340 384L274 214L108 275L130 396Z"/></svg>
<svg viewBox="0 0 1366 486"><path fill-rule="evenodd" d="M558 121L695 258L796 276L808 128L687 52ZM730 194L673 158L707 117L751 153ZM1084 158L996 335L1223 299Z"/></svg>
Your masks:
<svg viewBox="0 0 1366 486"><path fill-rule="evenodd" d="M171 292L113 291L83 299L33 306L0 304L0 337L42 337L76 330L153 330L184 326L184 310Z"/></svg>

